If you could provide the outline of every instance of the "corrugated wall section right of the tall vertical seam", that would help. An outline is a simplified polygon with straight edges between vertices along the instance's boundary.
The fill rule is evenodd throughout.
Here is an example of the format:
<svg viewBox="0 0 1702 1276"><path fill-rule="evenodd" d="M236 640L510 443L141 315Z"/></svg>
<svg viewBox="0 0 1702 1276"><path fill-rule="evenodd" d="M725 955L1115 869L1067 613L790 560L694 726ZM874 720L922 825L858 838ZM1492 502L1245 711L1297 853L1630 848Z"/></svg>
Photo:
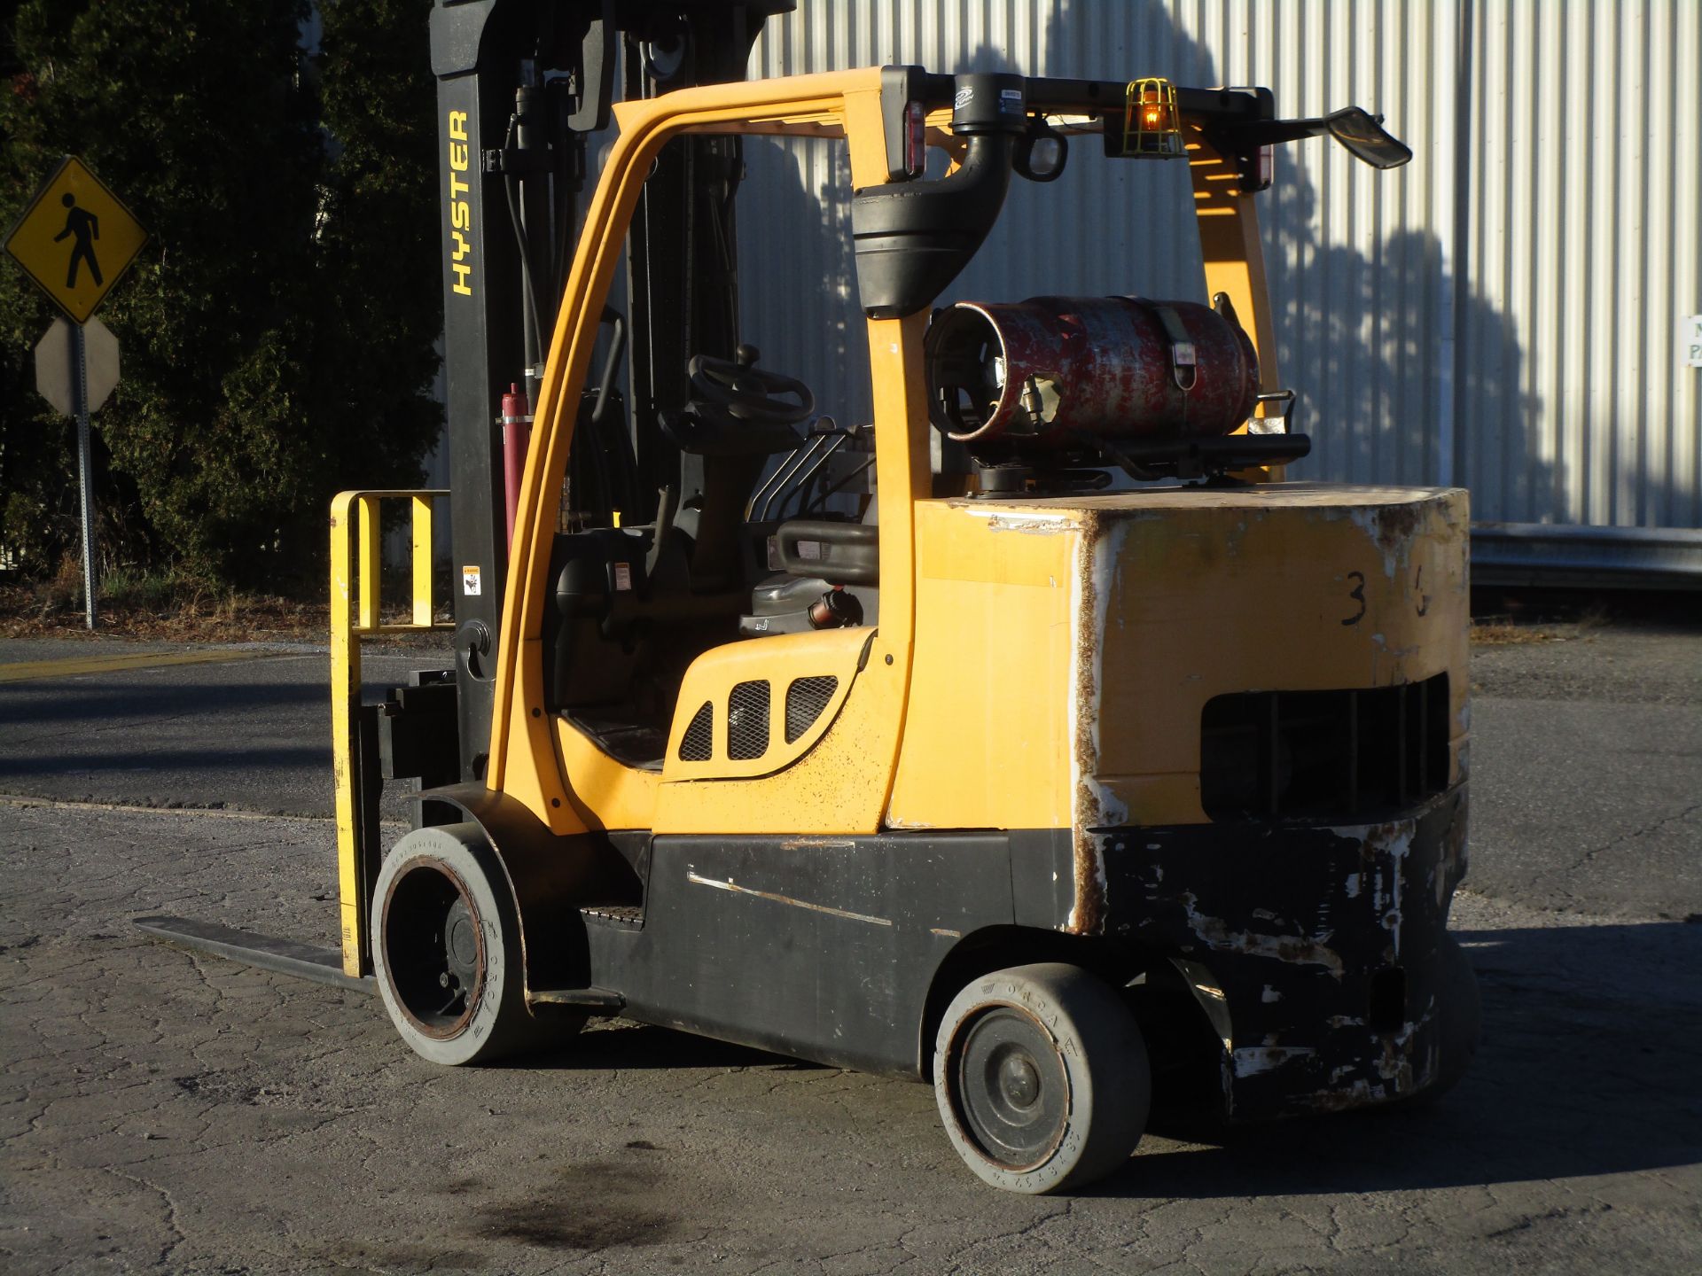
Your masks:
<svg viewBox="0 0 1702 1276"><path fill-rule="evenodd" d="M1697 527L1702 371L1678 320L1702 311L1702 5L1479 0L1467 37L1479 517Z"/></svg>

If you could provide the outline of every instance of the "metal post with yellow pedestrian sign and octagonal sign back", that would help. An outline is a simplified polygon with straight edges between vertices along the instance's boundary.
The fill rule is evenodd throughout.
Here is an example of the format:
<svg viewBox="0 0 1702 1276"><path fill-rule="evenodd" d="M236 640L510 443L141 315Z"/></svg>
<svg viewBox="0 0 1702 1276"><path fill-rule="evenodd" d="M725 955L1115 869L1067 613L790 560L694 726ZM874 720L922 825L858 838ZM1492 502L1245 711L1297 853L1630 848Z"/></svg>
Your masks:
<svg viewBox="0 0 1702 1276"><path fill-rule="evenodd" d="M102 233L104 231L104 233ZM77 471L82 483L83 522L83 619L95 628L95 487L94 456L89 441L89 413L106 402L117 383L117 342L99 320L95 327L111 345L111 383L90 403L89 342L83 325L136 260L148 231L100 184L75 155L66 155L53 170L24 214L5 236L5 250L36 281L36 286L70 318L68 366L54 367L49 345L61 322L56 322L36 347L36 385L41 393L77 422ZM104 259L104 260L102 260ZM63 282L61 282L63 277ZM44 357L43 352L48 350ZM46 371L44 371L46 369ZM54 376L54 371L60 374ZM70 388L70 403L53 393Z"/></svg>

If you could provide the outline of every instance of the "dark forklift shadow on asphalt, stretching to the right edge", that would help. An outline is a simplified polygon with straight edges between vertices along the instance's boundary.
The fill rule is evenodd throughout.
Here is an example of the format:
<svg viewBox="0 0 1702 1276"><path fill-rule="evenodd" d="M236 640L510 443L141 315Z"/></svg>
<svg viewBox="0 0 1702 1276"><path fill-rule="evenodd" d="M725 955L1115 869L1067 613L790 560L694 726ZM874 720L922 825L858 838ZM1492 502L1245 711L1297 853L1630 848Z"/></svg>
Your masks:
<svg viewBox="0 0 1702 1276"><path fill-rule="evenodd" d="M1229 1131L1156 1116L1128 1167L1084 1194L1413 1191L1702 1162L1702 926L1459 937L1477 966L1484 1031L1454 1092L1425 1108Z"/></svg>

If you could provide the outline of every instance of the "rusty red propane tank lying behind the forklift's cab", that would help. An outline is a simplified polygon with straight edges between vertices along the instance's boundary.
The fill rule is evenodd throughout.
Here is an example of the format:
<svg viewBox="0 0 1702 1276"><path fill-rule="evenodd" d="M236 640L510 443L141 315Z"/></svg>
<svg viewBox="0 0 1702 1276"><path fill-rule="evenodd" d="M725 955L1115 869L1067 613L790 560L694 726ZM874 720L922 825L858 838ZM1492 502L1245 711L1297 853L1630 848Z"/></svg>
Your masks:
<svg viewBox="0 0 1702 1276"><path fill-rule="evenodd" d="M1259 393L1248 333L1193 301L960 301L934 316L926 359L929 417L972 454L1215 437Z"/></svg>

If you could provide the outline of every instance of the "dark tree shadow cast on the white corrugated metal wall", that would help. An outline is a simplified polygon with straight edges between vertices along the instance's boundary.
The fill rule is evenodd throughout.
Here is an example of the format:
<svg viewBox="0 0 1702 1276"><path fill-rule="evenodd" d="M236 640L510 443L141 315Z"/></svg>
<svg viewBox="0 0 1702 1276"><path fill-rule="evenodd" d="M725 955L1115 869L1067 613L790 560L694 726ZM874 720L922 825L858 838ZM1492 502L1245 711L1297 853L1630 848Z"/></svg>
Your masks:
<svg viewBox="0 0 1702 1276"><path fill-rule="evenodd" d="M1134 68L1193 85L1224 78L1212 53L1157 0L1054 0L1042 48L1043 65L1016 70L1122 78ZM948 70L1006 70L1014 56L980 44ZM922 49L900 46L892 58L922 61ZM1292 109L1295 87L1273 87L1278 107ZM1377 102L1362 105L1379 109ZM1399 134L1402 122L1391 126ZM1474 451L1464 425L1486 422L1503 432L1503 473L1516 476L1508 485L1552 492L1562 475L1535 456L1540 403L1522 390L1525 356L1513 323L1464 281L1455 296L1442 242L1428 226L1397 226L1367 245L1367 211L1326 208L1299 158L1302 148L1333 145L1311 140L1283 148L1276 185L1259 208L1282 381L1299 391L1295 429L1312 436L1312 456L1290 473L1436 483L1447 473L1443 436L1452 432L1452 475L1462 483ZM1401 184L1419 180L1413 175L1419 165L1452 163L1452 145L1447 138L1425 146L1413 168L1363 170L1379 182L1372 208L1399 208ZM1098 151L1094 138L1082 138L1060 180L1013 180L999 225L940 303L1045 293L1202 298L1186 170L1108 162ZM1307 158L1316 168L1317 157ZM844 146L749 140L745 163L747 191L756 196L740 209L745 335L762 347L764 364L807 379L822 410L868 420ZM1343 242L1348 236L1356 242ZM1459 354L1445 340L1450 332L1459 333ZM1501 475L1484 478L1503 487Z"/></svg>

